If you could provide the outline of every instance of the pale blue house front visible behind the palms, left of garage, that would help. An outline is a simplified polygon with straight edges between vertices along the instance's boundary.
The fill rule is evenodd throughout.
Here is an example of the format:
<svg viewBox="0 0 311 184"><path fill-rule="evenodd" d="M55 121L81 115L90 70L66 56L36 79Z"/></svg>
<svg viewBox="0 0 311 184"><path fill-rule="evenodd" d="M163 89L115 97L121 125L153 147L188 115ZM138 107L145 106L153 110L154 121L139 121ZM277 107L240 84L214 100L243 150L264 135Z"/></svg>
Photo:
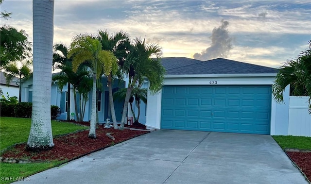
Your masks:
<svg viewBox="0 0 311 184"><path fill-rule="evenodd" d="M53 74L55 75L55 74ZM107 78L102 77L101 78L103 91L100 92L98 105L99 105L99 122L105 122L106 118L110 118L110 108L109 108L109 100L108 100L108 87L107 87ZM52 83L52 91L51 91L51 105L57 105L61 108L61 116L57 119L65 120L67 118L67 93L68 93L68 85L65 85L62 89L62 91L59 90L58 86L56 85L57 82ZM119 88L125 87L125 82L121 80L114 80L112 84L112 91L115 92ZM22 81L22 101L28 101L32 102L32 94L33 94L33 78L30 77L28 80ZM79 99L79 94L77 94L77 99ZM88 95L88 100L86 102L86 113L84 116L84 121L90 120L90 107L91 107L91 99L92 99L92 93L90 92ZM77 101L79 103L79 101ZM123 103L115 100L115 112L116 112L116 118L117 121L121 121L122 117L122 110L123 110ZM78 111L80 110L80 106L78 105ZM74 96L72 89L70 91L70 115L71 113L76 114L74 109ZM70 118L76 118L76 117L70 117ZM112 121L112 119L111 119Z"/></svg>

